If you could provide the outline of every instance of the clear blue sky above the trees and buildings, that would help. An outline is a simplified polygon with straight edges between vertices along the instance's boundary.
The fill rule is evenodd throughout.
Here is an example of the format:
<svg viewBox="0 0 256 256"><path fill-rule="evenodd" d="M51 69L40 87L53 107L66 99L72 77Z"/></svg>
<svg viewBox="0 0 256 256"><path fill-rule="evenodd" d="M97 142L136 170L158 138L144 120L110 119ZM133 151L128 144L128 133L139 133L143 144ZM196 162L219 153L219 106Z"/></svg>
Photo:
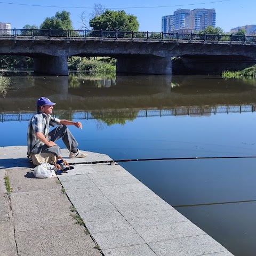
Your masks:
<svg viewBox="0 0 256 256"><path fill-rule="evenodd" d="M9 4L7 4L9 3ZM14 4L10 4L14 3ZM0 2L0 22L10 22L11 28L21 29L26 24L40 26L46 17L52 17L57 11L70 12L75 29L82 26L79 16L83 11L92 12L94 3L100 3L111 10L124 10L138 18L139 31L161 31L161 18L173 14L179 8L214 8L217 13L216 25L228 32L231 28L244 25L256 24L256 1L255 0L179 0L179 1L117 1L117 0L6 0ZM27 4L18 5L18 4ZM29 5L59 6L43 7ZM81 7L81 8L79 8Z"/></svg>

